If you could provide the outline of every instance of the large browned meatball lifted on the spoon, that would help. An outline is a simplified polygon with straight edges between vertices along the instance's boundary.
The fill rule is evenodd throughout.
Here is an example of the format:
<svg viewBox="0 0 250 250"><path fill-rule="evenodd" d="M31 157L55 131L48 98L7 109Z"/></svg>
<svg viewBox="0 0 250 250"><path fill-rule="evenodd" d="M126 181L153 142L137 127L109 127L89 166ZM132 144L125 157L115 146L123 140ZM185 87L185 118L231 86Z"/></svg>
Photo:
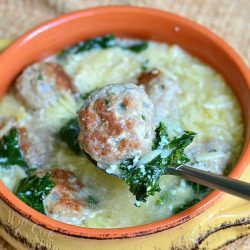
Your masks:
<svg viewBox="0 0 250 250"><path fill-rule="evenodd" d="M82 149L100 164L118 164L151 150L154 107L133 83L107 85L88 96L79 126Z"/></svg>

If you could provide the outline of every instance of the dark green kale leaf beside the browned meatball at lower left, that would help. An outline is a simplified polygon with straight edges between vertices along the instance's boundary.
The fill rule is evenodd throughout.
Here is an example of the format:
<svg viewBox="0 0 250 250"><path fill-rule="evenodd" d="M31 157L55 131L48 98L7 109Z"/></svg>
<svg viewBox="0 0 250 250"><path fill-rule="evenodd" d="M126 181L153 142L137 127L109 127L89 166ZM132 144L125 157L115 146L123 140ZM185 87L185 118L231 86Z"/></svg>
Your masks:
<svg viewBox="0 0 250 250"><path fill-rule="evenodd" d="M32 175L20 181L16 195L30 207L45 214L43 201L54 186L51 173L43 177Z"/></svg>

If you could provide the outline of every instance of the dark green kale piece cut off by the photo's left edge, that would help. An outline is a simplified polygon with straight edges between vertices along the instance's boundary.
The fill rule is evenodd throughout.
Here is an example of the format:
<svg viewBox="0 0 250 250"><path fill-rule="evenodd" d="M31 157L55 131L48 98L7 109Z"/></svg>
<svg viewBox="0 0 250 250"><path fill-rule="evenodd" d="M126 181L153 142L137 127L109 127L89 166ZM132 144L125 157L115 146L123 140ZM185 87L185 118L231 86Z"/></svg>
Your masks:
<svg viewBox="0 0 250 250"><path fill-rule="evenodd" d="M20 148L19 131L15 127L8 134L4 135L0 141L0 165L4 167L13 165L23 168L28 167Z"/></svg>

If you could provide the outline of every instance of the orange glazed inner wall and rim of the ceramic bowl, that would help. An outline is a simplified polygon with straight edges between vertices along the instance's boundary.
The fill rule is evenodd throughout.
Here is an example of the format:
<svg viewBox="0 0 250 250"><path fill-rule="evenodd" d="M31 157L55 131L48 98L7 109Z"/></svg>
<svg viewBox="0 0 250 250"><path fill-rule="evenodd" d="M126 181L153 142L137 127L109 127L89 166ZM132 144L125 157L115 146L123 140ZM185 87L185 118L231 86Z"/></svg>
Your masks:
<svg viewBox="0 0 250 250"><path fill-rule="evenodd" d="M178 44L199 57L226 79L238 97L245 124L245 146L230 177L239 178L250 162L250 73L236 52L206 28L172 13L138 7L101 7L73 12L38 26L14 42L0 56L0 94L3 96L27 65L81 40L112 33ZM0 182L5 205L22 217L56 233L88 239L131 238L178 226L213 205L221 192L214 191L193 207L154 223L119 229L72 226L50 219L20 201Z"/></svg>

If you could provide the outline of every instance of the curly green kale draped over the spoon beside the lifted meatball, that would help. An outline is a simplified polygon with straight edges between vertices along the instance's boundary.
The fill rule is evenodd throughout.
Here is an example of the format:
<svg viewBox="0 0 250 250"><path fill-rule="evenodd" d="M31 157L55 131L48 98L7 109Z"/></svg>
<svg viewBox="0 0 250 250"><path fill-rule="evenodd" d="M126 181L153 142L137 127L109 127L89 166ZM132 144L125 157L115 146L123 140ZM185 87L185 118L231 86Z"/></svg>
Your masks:
<svg viewBox="0 0 250 250"><path fill-rule="evenodd" d="M176 167L188 161L184 149L193 141L195 133L184 132L170 141L166 131L166 126L160 123L156 129L153 149L169 150L169 155L163 157L160 154L150 162L139 166L133 164L134 159L125 161L119 166L121 178L126 181L129 190L135 195L135 205L140 205L140 202L145 202L149 196L160 191L160 177L167 168Z"/></svg>

